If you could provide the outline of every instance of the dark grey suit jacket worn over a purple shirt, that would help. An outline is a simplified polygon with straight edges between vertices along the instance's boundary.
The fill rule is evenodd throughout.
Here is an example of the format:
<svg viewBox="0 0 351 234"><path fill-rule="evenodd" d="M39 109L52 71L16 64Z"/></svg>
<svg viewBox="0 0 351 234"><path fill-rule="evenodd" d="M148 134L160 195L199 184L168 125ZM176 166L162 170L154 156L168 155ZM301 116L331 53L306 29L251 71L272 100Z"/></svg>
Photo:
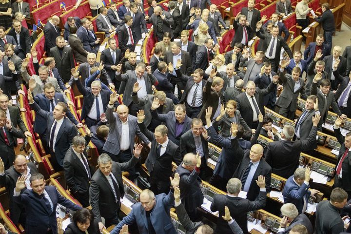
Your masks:
<svg viewBox="0 0 351 234"><path fill-rule="evenodd" d="M176 136L176 116L174 111L170 111L167 114L158 114L156 110L151 111L151 116L156 120L162 121L165 123L168 128L168 138L174 142L176 145L180 143L180 137L187 132L191 127L192 119L188 116L185 116L183 130Z"/></svg>

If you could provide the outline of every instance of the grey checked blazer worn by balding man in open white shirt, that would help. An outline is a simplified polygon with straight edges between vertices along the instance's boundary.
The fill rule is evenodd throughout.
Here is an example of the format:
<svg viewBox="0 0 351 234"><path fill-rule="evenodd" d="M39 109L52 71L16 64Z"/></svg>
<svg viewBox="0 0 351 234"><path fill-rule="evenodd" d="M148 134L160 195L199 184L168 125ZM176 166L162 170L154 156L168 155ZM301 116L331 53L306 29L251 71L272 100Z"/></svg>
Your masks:
<svg viewBox="0 0 351 234"><path fill-rule="evenodd" d="M106 119L110 124L110 131L107 136L103 150L118 155L120 151L120 138L122 137L122 122L120 121L117 113L113 112L113 108L109 106L106 108ZM129 127L129 142L130 150L133 155L134 138L137 135L145 144L149 144L150 141L140 132L137 125L137 117L128 115L128 127Z"/></svg>

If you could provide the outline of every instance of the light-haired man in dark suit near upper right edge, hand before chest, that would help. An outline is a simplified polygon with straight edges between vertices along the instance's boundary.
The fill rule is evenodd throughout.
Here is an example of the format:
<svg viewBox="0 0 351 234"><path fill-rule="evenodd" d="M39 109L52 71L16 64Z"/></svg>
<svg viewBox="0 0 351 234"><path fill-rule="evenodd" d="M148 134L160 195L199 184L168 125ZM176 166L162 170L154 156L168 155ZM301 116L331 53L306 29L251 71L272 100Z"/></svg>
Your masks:
<svg viewBox="0 0 351 234"><path fill-rule="evenodd" d="M327 79L331 81L331 88L336 90L342 80L337 79L333 74L333 71L336 70L338 73L344 77L346 75L346 59L341 54L341 46L335 45L332 50L332 55L325 56L323 61L324 70L328 73Z"/></svg>

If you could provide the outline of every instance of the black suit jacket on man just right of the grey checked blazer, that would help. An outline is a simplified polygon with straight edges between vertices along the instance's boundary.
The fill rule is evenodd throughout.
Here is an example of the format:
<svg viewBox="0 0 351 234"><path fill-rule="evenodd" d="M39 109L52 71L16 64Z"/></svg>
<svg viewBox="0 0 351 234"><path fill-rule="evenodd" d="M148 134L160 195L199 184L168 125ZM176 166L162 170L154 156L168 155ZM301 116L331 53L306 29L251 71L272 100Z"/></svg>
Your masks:
<svg viewBox="0 0 351 234"><path fill-rule="evenodd" d="M148 130L144 123L138 123L138 126L140 131L151 141L150 152L145 161L146 168L150 173L150 179L170 184L169 177L172 175L172 161L174 161L176 165L182 162L178 145L168 138L165 153L162 156L158 156L158 143L154 133Z"/></svg>

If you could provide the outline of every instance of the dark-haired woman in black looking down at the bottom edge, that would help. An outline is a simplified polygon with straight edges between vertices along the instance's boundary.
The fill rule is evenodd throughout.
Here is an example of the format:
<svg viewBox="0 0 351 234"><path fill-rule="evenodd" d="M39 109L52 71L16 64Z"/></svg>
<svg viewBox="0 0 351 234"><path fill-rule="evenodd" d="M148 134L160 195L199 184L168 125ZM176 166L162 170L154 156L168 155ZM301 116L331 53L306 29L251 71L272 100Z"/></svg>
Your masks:
<svg viewBox="0 0 351 234"><path fill-rule="evenodd" d="M62 228L58 225L59 229ZM61 232L60 232L61 231ZM73 215L73 222L70 223L66 230L59 230L59 234L100 234L98 221L94 219L93 212L83 208Z"/></svg>

